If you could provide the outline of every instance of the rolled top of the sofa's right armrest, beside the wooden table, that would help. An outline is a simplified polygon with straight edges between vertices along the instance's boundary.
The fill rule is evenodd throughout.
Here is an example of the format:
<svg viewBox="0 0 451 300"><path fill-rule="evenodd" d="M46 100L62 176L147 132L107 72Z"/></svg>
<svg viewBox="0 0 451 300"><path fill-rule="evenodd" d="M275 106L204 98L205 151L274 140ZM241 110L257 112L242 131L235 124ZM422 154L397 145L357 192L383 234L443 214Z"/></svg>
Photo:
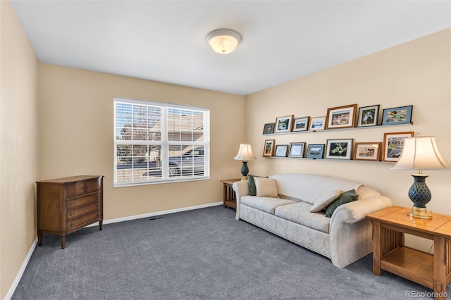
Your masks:
<svg viewBox="0 0 451 300"><path fill-rule="evenodd" d="M369 196L363 200L352 201L338 206L333 212L330 224L336 222L356 223L366 215L392 206L392 201L386 196Z"/></svg>

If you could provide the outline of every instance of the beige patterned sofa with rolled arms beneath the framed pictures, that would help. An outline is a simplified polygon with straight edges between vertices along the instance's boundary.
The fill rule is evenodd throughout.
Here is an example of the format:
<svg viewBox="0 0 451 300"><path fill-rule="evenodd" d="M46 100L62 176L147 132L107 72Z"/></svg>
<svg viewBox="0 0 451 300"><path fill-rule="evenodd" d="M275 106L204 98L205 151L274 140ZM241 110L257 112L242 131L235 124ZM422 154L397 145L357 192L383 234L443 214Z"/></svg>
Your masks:
<svg viewBox="0 0 451 300"><path fill-rule="evenodd" d="M373 251L371 222L365 215L392 206L392 201L375 189L335 177L279 174L254 180L256 196L249 195L247 181L233 183L237 220L322 254L339 268ZM352 189L358 199L330 212L330 202ZM329 208L330 218L323 207Z"/></svg>

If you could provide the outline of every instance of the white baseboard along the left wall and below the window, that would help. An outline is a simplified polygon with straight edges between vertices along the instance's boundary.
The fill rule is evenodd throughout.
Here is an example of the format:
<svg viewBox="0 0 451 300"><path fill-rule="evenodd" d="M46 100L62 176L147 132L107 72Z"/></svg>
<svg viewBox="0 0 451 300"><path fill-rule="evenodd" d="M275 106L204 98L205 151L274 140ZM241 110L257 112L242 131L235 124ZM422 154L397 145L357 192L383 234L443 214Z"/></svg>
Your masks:
<svg viewBox="0 0 451 300"><path fill-rule="evenodd" d="M124 217L124 218L104 220L104 224L118 223L118 222L136 220L136 219L140 219L140 218L149 218L149 217L153 217L154 215L167 215L168 213L180 213L181 211L191 211L193 209L218 206L218 205L222 205L222 204L223 204L223 201L209 203L209 204L202 204L202 205L197 205L197 206L175 208L175 209L170 209L168 211L157 211L155 213L144 213L143 215L130 215L129 217ZM98 223L94 223L94 224L88 225L87 227L97 226L97 225L98 225ZM37 245L37 237L35 238L35 241L33 241L32 245L30 247L30 251L28 251L27 257L25 257L25 260L23 261L22 266L20 267L20 270L16 276L16 279L13 282L13 285L11 285L11 287L9 288L9 291L8 291L8 294L6 294L5 300L11 299L11 297L14 294L14 291L16 291L16 287L18 286L18 284L20 282L20 278L22 277L23 273L25 272L25 268L27 268L27 264L30 261L33 251L35 251L36 245Z"/></svg>

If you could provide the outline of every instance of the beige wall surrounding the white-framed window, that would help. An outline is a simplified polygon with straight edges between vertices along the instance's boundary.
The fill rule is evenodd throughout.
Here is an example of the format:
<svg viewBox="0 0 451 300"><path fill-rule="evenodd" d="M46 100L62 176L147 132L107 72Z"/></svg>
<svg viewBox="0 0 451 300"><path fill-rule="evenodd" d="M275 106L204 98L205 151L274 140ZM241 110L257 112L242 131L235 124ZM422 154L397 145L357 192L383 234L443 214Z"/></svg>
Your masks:
<svg viewBox="0 0 451 300"><path fill-rule="evenodd" d="M115 96L210 108L211 180L113 189ZM240 176L243 127L243 96L39 65L39 180L105 175L106 220L222 201L219 180Z"/></svg>

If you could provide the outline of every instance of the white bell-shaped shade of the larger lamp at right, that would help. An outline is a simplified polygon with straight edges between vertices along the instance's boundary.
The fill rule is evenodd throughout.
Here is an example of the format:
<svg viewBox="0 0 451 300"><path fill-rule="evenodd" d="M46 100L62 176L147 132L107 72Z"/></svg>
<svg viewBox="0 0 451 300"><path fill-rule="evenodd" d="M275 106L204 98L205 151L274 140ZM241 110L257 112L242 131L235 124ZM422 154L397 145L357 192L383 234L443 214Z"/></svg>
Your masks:
<svg viewBox="0 0 451 300"><path fill-rule="evenodd" d="M435 137L409 137L404 139L400 159L392 169L447 170L451 165L438 151Z"/></svg>

